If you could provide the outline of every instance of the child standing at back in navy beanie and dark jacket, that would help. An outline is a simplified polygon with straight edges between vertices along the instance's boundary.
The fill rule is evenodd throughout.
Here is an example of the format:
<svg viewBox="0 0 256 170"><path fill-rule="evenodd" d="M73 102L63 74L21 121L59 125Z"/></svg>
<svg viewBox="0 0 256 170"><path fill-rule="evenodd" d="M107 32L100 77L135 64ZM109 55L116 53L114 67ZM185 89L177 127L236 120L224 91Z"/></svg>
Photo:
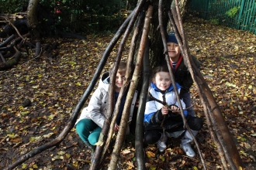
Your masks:
<svg viewBox="0 0 256 170"><path fill-rule="evenodd" d="M175 82L179 83L182 86L182 90L180 93L181 99L184 101L185 106L189 107L188 114L191 116L195 116L195 111L191 104L191 97L189 93L190 87L192 87L192 76L189 73L188 66L185 65L183 56L181 54L181 49L178 46L178 41L175 37L174 32L171 32L168 35L167 39L168 46L168 55L171 60L171 68L175 75ZM192 61L195 63L195 66L199 69L200 63L192 56Z"/></svg>

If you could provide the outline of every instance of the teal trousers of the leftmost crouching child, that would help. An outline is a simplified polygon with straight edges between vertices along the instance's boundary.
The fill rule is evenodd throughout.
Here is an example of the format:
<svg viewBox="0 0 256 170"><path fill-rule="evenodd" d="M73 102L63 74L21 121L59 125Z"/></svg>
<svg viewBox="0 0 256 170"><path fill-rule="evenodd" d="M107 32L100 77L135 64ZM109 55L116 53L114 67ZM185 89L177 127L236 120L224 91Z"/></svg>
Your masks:
<svg viewBox="0 0 256 170"><path fill-rule="evenodd" d="M97 143L99 140L99 134L102 131L102 128L95 124L95 122L91 119L85 118L78 121L76 131L78 132L78 135L82 141L95 145L95 143Z"/></svg>

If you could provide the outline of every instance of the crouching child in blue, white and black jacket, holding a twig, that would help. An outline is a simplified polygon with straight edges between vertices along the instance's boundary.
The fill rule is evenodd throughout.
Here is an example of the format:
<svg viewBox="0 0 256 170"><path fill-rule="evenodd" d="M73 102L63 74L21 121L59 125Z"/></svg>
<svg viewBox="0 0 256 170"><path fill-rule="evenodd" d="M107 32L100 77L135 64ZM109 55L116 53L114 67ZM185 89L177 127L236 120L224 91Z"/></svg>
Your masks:
<svg viewBox="0 0 256 170"><path fill-rule="evenodd" d="M176 83L178 93L182 87ZM175 96L175 91L171 83L171 76L168 72L167 66L157 66L152 73L152 82L150 83L149 93L152 97L147 101L144 113L144 140L147 144L157 144L159 151L164 151L166 148L167 137L178 138L184 132L182 137L181 147L186 155L190 157L195 156L189 142L192 141L192 136L189 131L183 129L183 121L181 114L178 114L178 100ZM155 99L166 102L171 106L171 110L163 104L157 102ZM185 103L181 100L182 107L185 109ZM192 133L196 135L202 128L202 119L200 117L192 117L184 110L184 114L191 128ZM163 128L165 133L163 134Z"/></svg>

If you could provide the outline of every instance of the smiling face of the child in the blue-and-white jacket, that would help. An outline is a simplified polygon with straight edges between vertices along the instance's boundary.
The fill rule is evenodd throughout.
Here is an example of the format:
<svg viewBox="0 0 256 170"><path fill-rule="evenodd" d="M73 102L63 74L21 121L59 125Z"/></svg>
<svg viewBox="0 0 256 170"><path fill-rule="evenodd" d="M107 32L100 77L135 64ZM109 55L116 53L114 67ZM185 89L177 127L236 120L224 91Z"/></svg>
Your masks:
<svg viewBox="0 0 256 170"><path fill-rule="evenodd" d="M168 72L158 72L154 77L153 83L160 90L167 90L171 86L171 76Z"/></svg>

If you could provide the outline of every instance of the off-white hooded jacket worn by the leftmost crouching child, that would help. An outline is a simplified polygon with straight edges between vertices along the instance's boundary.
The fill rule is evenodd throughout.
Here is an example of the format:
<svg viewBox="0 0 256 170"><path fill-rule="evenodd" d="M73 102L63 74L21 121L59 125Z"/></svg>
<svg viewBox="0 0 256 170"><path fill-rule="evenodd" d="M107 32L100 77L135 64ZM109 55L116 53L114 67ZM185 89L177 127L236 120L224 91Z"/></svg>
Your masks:
<svg viewBox="0 0 256 170"><path fill-rule="evenodd" d="M101 79L99 80L99 87L95 90L95 92L92 94L91 100L88 104L88 107L85 107L81 111L81 115L78 118L78 121L81 121L81 119L91 119L95 122L95 124L98 124L100 128L103 127L105 116L103 114L106 114L107 110L107 101L109 97L109 80L106 80L108 78L109 72L103 73ZM133 109L135 107L137 99L137 91L135 91L133 96L132 105L130 107L130 117L129 120L133 117ZM77 124L78 121L75 123Z"/></svg>

